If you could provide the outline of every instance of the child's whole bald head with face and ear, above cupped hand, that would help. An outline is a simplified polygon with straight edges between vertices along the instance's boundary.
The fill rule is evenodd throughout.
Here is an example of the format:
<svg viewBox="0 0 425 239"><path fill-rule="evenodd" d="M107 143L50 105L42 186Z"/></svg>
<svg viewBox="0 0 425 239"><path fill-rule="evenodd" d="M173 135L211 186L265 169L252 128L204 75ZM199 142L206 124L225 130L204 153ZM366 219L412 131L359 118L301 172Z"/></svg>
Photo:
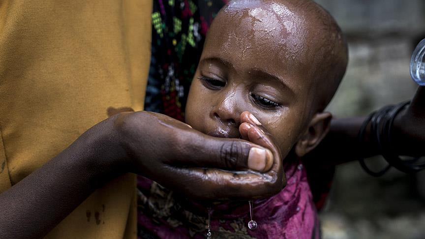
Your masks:
<svg viewBox="0 0 425 239"><path fill-rule="evenodd" d="M345 72L347 47L334 19L308 0L234 0L214 19L186 105L201 132L237 138L249 111L285 157L326 135L322 112Z"/></svg>

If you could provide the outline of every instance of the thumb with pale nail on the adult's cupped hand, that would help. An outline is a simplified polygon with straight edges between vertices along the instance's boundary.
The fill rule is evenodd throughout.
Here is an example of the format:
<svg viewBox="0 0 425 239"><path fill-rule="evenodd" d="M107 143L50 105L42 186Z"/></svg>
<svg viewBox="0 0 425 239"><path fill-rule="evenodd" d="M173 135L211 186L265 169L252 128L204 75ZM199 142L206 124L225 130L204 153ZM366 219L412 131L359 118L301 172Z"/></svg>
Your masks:
<svg viewBox="0 0 425 239"><path fill-rule="evenodd" d="M189 167L212 167L226 170L251 169L265 172L273 162L268 149L240 139L211 137L196 131L187 131L179 136L172 149L176 158L169 164Z"/></svg>

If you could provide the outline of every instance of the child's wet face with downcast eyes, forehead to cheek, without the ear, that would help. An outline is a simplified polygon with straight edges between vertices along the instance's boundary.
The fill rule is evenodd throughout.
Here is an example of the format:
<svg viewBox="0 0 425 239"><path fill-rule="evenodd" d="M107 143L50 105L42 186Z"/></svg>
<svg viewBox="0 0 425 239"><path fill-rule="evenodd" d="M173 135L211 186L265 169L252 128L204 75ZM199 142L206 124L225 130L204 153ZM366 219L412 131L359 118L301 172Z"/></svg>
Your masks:
<svg viewBox="0 0 425 239"><path fill-rule="evenodd" d="M271 4L230 5L215 18L190 88L186 122L212 136L239 138L241 113L249 111L284 158L314 113L308 68L313 55L306 50L314 41L303 17Z"/></svg>

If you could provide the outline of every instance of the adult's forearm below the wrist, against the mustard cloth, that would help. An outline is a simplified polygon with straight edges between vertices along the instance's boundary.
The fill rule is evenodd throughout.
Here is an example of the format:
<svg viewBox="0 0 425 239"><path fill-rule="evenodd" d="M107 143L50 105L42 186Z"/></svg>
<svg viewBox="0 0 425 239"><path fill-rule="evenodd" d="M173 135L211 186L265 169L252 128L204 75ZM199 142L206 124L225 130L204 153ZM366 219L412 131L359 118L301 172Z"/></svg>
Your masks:
<svg viewBox="0 0 425 239"><path fill-rule="evenodd" d="M110 127L108 122L100 126ZM105 154L111 146L105 144L105 135L98 129L89 130L58 156L0 194L1 238L43 237L96 188L120 174L120 167L110 160L113 155Z"/></svg>

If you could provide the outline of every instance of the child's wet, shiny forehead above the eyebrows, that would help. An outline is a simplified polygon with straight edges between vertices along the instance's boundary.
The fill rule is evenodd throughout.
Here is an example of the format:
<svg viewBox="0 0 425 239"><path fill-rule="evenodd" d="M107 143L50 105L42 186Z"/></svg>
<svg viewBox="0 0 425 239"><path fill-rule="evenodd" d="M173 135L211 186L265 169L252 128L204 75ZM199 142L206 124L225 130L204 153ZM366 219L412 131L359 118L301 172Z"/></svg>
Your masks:
<svg viewBox="0 0 425 239"><path fill-rule="evenodd" d="M234 1L214 20L206 48L237 58L233 62L288 72L307 65L304 22L303 16L280 3Z"/></svg>

